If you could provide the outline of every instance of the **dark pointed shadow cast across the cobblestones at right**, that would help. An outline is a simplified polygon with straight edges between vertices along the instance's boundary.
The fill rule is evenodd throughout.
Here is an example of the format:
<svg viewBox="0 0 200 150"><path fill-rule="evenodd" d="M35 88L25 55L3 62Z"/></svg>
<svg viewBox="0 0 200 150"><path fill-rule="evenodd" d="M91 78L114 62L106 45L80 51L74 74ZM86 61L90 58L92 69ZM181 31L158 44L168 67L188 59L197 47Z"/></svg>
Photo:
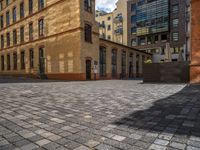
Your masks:
<svg viewBox="0 0 200 150"><path fill-rule="evenodd" d="M188 85L152 105L124 116L113 124L156 133L200 137L200 85Z"/></svg>

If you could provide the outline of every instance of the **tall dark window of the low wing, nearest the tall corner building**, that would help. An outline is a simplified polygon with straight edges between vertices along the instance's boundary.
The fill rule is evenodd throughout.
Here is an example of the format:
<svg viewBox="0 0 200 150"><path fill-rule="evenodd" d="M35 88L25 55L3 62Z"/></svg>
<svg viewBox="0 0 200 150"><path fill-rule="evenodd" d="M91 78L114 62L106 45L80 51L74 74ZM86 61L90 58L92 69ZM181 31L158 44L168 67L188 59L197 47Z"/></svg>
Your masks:
<svg viewBox="0 0 200 150"><path fill-rule="evenodd" d="M100 47L100 76L104 77L106 76L106 48Z"/></svg>

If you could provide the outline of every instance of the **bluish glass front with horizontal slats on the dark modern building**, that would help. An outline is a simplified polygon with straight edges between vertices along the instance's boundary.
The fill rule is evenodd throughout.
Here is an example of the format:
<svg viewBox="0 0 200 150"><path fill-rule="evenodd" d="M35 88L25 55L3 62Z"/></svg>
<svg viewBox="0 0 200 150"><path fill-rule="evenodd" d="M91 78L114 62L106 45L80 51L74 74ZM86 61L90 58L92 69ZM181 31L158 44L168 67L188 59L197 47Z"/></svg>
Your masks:
<svg viewBox="0 0 200 150"><path fill-rule="evenodd" d="M137 5L137 36L167 32L169 30L168 0L140 0Z"/></svg>

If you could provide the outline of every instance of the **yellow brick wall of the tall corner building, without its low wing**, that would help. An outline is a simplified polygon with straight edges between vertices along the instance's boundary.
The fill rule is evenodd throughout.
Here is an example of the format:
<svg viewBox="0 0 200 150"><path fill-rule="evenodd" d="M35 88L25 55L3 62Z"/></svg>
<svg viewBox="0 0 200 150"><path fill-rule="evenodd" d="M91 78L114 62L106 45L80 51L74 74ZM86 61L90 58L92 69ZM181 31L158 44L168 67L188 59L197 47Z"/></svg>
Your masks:
<svg viewBox="0 0 200 150"><path fill-rule="evenodd" d="M91 11L85 9L84 0L45 0L42 9L38 9L38 3L34 2L31 14L29 13L29 1L24 1L23 18L19 13L20 0L10 1L7 6L3 1L4 7L0 11L0 16L4 17L4 27L0 29L0 36L4 36L4 46L0 48L0 75L41 77L43 71L42 74L49 79L94 79L92 69L94 62L97 64L99 62L100 40L99 28L95 21L95 0L91 1ZM14 7L17 8L16 22L13 21ZM6 25L8 11L10 12L10 25ZM44 22L42 36L39 36L40 19ZM33 23L33 39L31 40L30 23ZM85 40L86 25L92 27L90 42ZM22 26L24 27L23 42L20 40ZM17 30L16 44L13 42L14 30ZM7 44L7 33L10 33L10 45ZM125 49L123 46L120 48ZM33 57L30 54L31 49L34 52ZM16 61L14 54L17 55ZM32 61L30 61L31 58L33 58ZM14 64L17 68L14 68ZM99 79L99 69L97 70L96 78Z"/></svg>

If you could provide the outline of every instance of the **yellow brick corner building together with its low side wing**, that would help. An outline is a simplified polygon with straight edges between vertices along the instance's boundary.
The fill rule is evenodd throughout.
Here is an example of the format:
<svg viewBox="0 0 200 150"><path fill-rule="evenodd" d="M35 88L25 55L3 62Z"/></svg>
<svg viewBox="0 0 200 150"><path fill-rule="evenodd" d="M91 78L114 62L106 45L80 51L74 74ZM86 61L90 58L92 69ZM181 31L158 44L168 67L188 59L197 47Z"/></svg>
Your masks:
<svg viewBox="0 0 200 150"><path fill-rule="evenodd" d="M128 64L130 54L138 58L131 60L133 67ZM66 80L128 77L129 66L141 75L148 57L99 39L95 0L0 1L0 75Z"/></svg>

